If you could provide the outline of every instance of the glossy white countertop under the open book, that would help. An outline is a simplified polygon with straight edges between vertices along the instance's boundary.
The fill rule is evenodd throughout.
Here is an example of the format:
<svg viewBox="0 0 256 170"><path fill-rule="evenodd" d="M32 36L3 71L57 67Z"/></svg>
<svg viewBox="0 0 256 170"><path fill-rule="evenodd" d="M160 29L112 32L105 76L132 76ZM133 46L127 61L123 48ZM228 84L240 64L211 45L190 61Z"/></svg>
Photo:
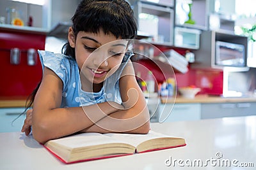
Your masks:
<svg viewBox="0 0 256 170"><path fill-rule="evenodd" d="M186 162L197 160L207 166L188 169L244 169L238 167L241 163L253 166L246 169L256 168L256 116L154 123L151 129L185 138L187 146L66 165L31 136L21 132L0 133L0 169L184 169L188 167ZM216 155L222 157L218 159ZM166 166L166 163L170 164L170 158L172 163L175 161L174 167L173 164ZM231 162L230 167L225 161ZM224 166L218 166L218 162L224 162L221 163Z"/></svg>

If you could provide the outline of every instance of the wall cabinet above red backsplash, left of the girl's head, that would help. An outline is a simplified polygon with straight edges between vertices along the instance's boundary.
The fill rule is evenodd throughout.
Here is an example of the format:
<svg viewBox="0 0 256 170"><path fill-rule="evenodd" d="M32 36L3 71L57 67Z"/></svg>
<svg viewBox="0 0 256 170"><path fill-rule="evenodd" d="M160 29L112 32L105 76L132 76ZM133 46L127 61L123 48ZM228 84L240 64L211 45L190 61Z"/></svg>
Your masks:
<svg viewBox="0 0 256 170"><path fill-rule="evenodd" d="M76 11L80 0L47 0L44 5L20 3L16 1L0 1L0 16L6 18L5 24L0 24L1 29L12 29L19 32L34 32L48 34L63 38L67 36L71 18ZM6 8L15 7L20 11L24 26L14 26L7 23ZM29 16L33 17L33 26L28 27Z"/></svg>

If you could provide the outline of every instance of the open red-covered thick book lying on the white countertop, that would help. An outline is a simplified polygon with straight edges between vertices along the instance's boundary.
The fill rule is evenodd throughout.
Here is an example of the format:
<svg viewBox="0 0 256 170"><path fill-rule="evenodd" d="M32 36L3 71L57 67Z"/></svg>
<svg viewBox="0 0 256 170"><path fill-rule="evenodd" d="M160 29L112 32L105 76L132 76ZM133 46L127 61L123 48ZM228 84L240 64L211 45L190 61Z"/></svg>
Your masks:
<svg viewBox="0 0 256 170"><path fill-rule="evenodd" d="M71 164L185 145L183 138L150 131L148 134L76 134L47 141L44 147L65 164Z"/></svg>

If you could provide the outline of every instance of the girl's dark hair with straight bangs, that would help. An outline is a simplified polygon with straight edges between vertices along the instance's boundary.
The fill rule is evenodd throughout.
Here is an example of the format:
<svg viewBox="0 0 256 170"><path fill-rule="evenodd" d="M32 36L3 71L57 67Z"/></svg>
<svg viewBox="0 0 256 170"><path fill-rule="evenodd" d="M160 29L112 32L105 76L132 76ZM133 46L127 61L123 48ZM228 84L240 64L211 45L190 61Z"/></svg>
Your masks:
<svg viewBox="0 0 256 170"><path fill-rule="evenodd" d="M137 34L134 13L124 0L83 0L72 17L72 29L76 38L79 31L113 34L116 38L133 39ZM62 53L76 59L75 49L65 43ZM26 103L26 111L33 105L41 81Z"/></svg>

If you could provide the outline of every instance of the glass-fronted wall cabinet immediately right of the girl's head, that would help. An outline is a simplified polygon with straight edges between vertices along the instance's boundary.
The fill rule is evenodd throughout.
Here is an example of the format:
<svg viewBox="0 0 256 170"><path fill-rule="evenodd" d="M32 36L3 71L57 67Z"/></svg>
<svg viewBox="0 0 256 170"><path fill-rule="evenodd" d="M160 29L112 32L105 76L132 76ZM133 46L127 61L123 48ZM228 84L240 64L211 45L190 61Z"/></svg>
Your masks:
<svg viewBox="0 0 256 170"><path fill-rule="evenodd" d="M169 4L169 5L163 5ZM138 31L150 35L150 43L173 45L173 1L170 3L152 3L150 1L131 1L134 16L138 21ZM150 27L148 27L150 25Z"/></svg>

